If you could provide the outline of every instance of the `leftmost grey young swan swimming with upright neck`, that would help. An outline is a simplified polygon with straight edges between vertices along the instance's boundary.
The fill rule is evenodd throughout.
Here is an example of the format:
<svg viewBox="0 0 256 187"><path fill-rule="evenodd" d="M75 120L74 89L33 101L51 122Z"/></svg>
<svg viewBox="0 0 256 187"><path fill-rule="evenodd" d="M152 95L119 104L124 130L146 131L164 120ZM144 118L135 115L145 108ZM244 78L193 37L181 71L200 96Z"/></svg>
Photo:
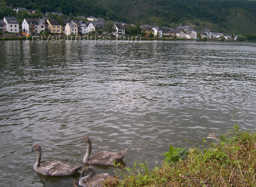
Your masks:
<svg viewBox="0 0 256 187"><path fill-rule="evenodd" d="M29 151L38 151L37 152L37 162L34 165L34 170L40 174L46 176L66 176L66 175L73 175L75 174L82 166L69 166L67 164L63 164L62 162L48 162L42 166L40 166L41 155L42 155L42 148L40 145L35 144L31 150Z"/></svg>

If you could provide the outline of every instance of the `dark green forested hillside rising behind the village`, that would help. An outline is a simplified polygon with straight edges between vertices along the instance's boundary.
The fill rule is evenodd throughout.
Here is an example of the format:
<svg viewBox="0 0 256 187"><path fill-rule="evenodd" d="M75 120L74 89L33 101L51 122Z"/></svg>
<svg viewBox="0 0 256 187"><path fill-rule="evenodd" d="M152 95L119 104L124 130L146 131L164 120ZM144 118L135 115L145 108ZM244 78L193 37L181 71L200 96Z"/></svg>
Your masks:
<svg viewBox="0 0 256 187"><path fill-rule="evenodd" d="M95 16L127 23L176 27L181 22L255 33L256 0L0 0L41 12ZM239 19L238 19L239 18Z"/></svg>

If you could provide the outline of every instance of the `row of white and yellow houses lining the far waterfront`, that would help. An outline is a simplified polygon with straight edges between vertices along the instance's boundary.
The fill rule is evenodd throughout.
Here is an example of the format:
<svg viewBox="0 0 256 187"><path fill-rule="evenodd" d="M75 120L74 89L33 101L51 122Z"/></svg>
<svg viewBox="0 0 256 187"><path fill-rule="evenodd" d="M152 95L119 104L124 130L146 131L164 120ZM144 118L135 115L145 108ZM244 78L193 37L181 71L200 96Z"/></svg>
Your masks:
<svg viewBox="0 0 256 187"><path fill-rule="evenodd" d="M25 18L22 22L22 28L19 29L19 22L16 17L4 17L0 20L0 31L10 33L29 33L30 35L37 35L48 31L53 34L64 34L64 35L85 35L97 29L102 29L106 26L105 20L102 18L95 18L93 16L87 17L89 21L83 20L72 20L63 27L58 20L54 19L31 19ZM126 23L114 23L113 27L115 32L114 36L124 36L125 28L128 24ZM130 24L132 27L135 25ZM185 25L178 26L176 29L173 28L159 28L152 27L150 25L141 25L141 32L144 37L179 37L186 39L197 39L199 34L207 39L218 39L220 36L224 36L225 39L236 39L234 36L225 35L223 33L213 32L211 29L194 30L193 26ZM139 34L139 33L138 33ZM232 38L233 37L233 38Z"/></svg>

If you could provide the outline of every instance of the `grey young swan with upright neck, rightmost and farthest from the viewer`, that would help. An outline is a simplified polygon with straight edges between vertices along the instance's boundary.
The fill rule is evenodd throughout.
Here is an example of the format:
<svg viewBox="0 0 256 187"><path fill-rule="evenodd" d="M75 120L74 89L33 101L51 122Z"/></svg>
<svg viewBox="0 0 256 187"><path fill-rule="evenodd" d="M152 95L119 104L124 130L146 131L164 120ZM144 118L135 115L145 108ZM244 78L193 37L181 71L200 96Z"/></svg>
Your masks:
<svg viewBox="0 0 256 187"><path fill-rule="evenodd" d="M91 154L91 140L88 136L84 136L78 143L88 143L86 154L84 155L83 162L89 164L101 164L101 165L114 165L113 162L120 162L124 155L127 153L128 148L118 152L100 151L90 157Z"/></svg>

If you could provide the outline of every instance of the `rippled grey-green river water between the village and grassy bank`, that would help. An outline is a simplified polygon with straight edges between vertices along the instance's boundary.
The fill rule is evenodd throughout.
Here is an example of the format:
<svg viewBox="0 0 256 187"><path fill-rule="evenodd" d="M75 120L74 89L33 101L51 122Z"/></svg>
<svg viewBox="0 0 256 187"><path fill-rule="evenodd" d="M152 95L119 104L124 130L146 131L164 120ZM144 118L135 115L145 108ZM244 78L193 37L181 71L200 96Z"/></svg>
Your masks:
<svg viewBox="0 0 256 187"><path fill-rule="evenodd" d="M86 166L84 135L92 154L129 148L127 166L154 167L169 144L192 147L178 136L255 128L255 92L256 43L0 41L0 186L72 187L79 174L37 174L28 152Z"/></svg>

